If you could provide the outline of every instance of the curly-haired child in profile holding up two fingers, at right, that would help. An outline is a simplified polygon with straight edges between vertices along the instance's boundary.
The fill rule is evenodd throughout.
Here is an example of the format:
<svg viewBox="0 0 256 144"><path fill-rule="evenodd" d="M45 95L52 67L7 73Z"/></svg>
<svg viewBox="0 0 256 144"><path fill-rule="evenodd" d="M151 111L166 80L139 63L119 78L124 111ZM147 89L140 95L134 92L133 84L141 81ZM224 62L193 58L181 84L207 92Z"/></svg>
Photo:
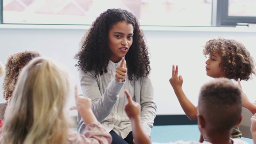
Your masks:
<svg viewBox="0 0 256 144"><path fill-rule="evenodd" d="M206 42L203 50L204 56L209 56L206 60L206 75L212 78L229 78L238 81L249 80L252 74L256 74L254 68L254 60L250 52L245 46L236 40L229 40L222 37L211 39ZM178 66L172 65L172 78L170 84L184 110L185 114L194 120L197 118L198 108L194 106L186 97L182 90L183 78L178 76ZM243 106L248 108L253 114L256 112L256 105L248 100L243 94ZM242 134L238 130L239 126L235 127L231 137L241 138ZM202 137L200 141L202 141Z"/></svg>

